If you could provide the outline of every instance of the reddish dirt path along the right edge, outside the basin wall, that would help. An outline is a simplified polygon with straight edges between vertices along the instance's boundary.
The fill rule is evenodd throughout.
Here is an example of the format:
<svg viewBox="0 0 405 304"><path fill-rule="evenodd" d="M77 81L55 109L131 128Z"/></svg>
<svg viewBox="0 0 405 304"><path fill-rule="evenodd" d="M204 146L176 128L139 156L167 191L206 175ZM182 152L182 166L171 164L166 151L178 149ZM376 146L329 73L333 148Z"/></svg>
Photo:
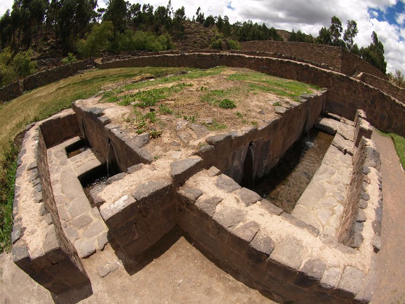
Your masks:
<svg viewBox="0 0 405 304"><path fill-rule="evenodd" d="M383 180L382 248L377 255L378 284L373 303L405 303L405 173L391 138L377 130L372 139L381 155Z"/></svg>

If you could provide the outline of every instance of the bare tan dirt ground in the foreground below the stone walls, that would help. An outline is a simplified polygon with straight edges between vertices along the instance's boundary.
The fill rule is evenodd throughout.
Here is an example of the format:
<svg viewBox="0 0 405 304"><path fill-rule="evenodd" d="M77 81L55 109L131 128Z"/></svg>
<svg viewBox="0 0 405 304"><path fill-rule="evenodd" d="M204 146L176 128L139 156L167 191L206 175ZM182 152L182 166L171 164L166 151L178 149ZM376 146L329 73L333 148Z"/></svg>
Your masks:
<svg viewBox="0 0 405 304"><path fill-rule="evenodd" d="M142 262L118 260L110 245L84 260L92 281L82 288L52 296L14 263L0 255L0 303L275 303L218 268L175 229ZM100 261L118 262L101 278ZM123 262L125 267L123 266ZM90 296L89 296L90 295Z"/></svg>

